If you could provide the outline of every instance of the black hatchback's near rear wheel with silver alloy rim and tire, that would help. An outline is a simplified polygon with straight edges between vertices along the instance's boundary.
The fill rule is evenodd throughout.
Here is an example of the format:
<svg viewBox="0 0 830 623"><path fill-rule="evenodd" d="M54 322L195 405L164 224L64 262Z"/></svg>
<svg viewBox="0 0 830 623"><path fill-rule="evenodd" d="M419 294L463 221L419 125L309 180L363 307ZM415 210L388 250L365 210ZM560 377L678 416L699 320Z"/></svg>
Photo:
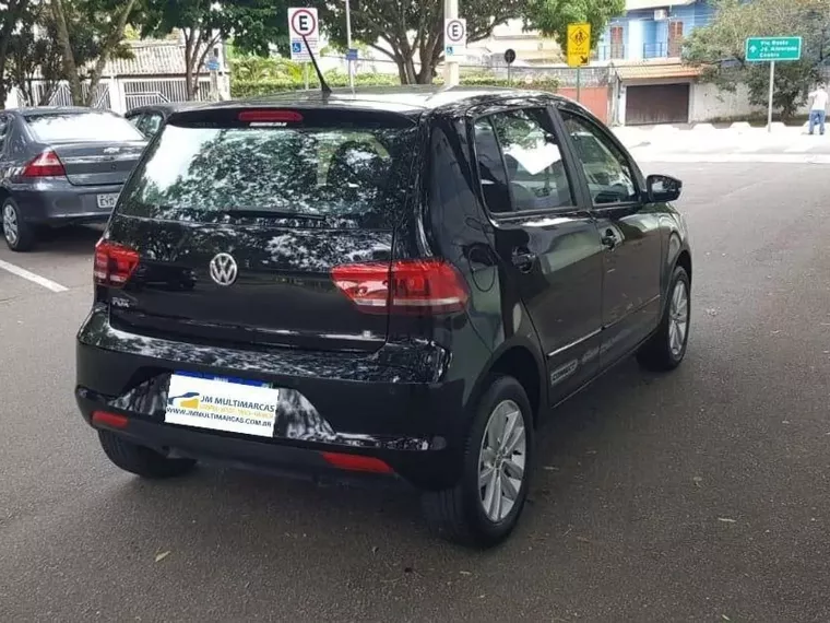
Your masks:
<svg viewBox="0 0 830 623"><path fill-rule="evenodd" d="M511 424L512 436L502 438ZM505 426L502 435L499 426ZM430 531L477 548L494 546L510 536L527 499L533 433L533 412L522 385L510 376L494 376L470 425L461 480L422 497ZM521 479L514 478L519 469Z"/></svg>

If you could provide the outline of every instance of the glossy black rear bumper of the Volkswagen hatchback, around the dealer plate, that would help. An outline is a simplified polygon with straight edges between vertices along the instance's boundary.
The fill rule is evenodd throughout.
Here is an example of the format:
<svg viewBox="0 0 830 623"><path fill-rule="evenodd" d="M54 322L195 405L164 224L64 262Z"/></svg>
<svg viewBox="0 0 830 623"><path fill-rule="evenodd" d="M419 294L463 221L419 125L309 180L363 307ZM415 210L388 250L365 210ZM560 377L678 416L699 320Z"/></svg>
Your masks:
<svg viewBox="0 0 830 623"><path fill-rule="evenodd" d="M96 308L79 333L76 400L127 415L115 431L164 454L278 471L315 473L321 452L374 457L422 489L461 473L462 388L398 368L376 354L241 351L135 336ZM273 437L166 424L169 378L197 372L252 378L281 389Z"/></svg>

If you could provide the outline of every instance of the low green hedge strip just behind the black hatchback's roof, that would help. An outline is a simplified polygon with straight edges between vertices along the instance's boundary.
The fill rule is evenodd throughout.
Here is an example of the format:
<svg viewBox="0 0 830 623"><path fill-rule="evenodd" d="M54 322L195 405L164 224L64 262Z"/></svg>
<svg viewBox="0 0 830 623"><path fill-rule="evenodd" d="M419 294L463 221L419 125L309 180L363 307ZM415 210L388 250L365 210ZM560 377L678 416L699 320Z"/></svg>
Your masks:
<svg viewBox="0 0 830 623"><path fill-rule="evenodd" d="M276 59L260 59L260 60L276 60ZM283 61L286 64L290 61ZM263 66L270 66L271 63L262 63ZM284 91L299 91L306 87L305 79L303 78L301 68L297 66L300 71L298 78L289 78L287 74L265 75L260 73L259 79L242 79L242 74L232 73L233 80L230 82L230 94L234 97L253 97L259 95L273 95ZM339 71L325 72L325 81L332 89L348 86L348 74ZM440 84L442 80L440 78L435 81ZM400 80L396 75L389 73L358 73L355 75L355 86L394 86L400 84ZM461 75L461 84L466 86L510 86L506 79L496 78L486 72L475 72ZM313 71L309 72L309 87L317 89L320 83L317 80ZM559 86L559 82L556 79L544 78L536 79L530 84L525 84L523 81L514 81L512 86L522 86L534 89L538 91L556 91Z"/></svg>

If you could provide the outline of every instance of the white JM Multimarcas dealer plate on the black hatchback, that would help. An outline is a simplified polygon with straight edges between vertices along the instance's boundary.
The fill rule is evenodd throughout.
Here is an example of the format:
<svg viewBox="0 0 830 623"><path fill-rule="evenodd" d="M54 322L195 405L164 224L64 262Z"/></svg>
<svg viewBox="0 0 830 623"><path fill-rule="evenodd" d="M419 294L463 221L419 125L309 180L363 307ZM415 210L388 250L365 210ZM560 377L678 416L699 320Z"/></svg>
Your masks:
<svg viewBox="0 0 830 623"><path fill-rule="evenodd" d="M280 390L235 378L174 374L164 421L168 424L273 437Z"/></svg>

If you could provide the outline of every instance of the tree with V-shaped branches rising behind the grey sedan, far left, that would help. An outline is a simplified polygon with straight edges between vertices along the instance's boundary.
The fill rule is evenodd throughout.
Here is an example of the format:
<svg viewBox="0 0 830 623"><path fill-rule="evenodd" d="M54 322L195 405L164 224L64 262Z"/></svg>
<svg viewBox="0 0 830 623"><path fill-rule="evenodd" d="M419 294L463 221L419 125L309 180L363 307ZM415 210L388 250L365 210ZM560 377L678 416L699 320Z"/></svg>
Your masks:
<svg viewBox="0 0 830 623"><path fill-rule="evenodd" d="M124 54L124 28L137 4L138 0L50 0L73 103L93 104L107 61ZM94 51L87 55L81 50ZM95 59L92 67L84 62L84 56ZM85 80L90 81L86 92Z"/></svg>

